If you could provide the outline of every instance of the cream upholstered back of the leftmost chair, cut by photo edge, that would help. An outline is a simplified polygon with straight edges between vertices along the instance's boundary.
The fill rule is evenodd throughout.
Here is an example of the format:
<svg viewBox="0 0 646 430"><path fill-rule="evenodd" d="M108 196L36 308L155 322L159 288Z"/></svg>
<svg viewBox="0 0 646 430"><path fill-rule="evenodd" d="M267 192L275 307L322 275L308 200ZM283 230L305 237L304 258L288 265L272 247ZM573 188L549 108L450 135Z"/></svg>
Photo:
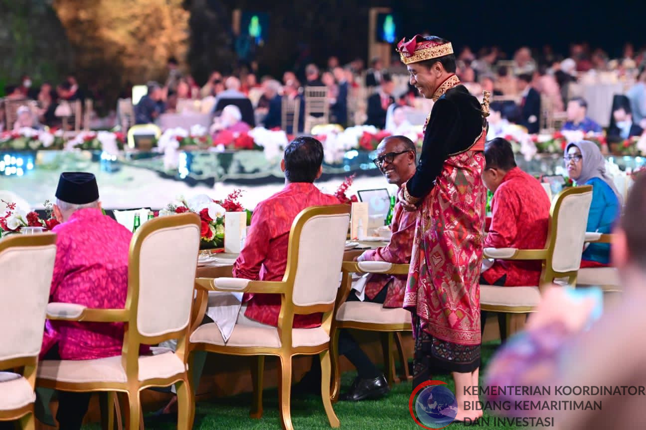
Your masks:
<svg viewBox="0 0 646 430"><path fill-rule="evenodd" d="M0 240L0 362L40 353L55 259L52 233Z"/></svg>

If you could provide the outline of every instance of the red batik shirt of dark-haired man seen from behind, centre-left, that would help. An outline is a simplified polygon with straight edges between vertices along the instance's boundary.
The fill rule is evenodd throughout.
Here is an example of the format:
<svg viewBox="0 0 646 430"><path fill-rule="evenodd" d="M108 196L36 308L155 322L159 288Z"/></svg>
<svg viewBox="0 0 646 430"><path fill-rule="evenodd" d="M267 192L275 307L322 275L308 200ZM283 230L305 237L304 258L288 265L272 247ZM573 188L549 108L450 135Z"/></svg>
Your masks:
<svg viewBox="0 0 646 430"><path fill-rule="evenodd" d="M339 204L333 195L322 193L310 182L291 182L282 191L256 206L245 246L233 264L233 276L251 280L282 280L287 266L289 230L300 211L309 206ZM279 294L245 294L245 316L278 325ZM295 328L318 327L321 314L295 315Z"/></svg>

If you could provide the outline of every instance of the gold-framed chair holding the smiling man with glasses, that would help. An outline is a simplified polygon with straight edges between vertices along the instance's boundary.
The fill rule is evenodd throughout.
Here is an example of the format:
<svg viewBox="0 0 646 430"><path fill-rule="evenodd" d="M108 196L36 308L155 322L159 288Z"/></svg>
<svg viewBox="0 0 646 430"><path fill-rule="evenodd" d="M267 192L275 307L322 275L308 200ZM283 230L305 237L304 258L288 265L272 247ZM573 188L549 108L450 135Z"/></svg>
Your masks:
<svg viewBox="0 0 646 430"><path fill-rule="evenodd" d="M388 384L411 380L408 372L408 360L402 348L401 331L411 331L411 315L403 308L384 308L380 303L348 302L352 291L352 273L382 273L388 275L408 275L408 264L393 264L385 261L344 261L342 280L337 294L337 311L332 322L332 337L330 353L332 356L331 398L339 398L341 372L339 367L339 330L355 329L364 331L379 331L382 333L382 348L384 366ZM395 360L393 359L393 344L397 342L397 350L402 363L400 378L395 376Z"/></svg>

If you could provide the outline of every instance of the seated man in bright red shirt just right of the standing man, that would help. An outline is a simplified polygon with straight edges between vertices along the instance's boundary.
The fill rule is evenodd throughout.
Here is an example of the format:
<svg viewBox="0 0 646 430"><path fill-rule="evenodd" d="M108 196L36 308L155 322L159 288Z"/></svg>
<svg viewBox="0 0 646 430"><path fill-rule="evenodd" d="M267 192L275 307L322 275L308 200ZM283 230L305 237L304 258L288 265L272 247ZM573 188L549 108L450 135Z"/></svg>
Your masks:
<svg viewBox="0 0 646 430"><path fill-rule="evenodd" d="M492 220L485 248L541 249L547 239L551 202L541 183L516 166L512 145L498 137L485 146L483 182L494 193ZM480 283L534 286L541 277L540 261L494 260ZM485 319L483 318L483 327Z"/></svg>

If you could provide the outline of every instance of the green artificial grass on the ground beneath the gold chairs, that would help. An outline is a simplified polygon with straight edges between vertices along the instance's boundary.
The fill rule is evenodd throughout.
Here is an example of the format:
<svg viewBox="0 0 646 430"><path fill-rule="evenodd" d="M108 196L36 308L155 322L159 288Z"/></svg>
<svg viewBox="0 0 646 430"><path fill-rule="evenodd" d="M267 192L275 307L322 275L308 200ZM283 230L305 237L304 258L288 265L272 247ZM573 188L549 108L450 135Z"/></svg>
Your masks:
<svg viewBox="0 0 646 430"><path fill-rule="evenodd" d="M483 344L482 358L486 368L486 362L490 359L499 342ZM481 382L483 369L481 369ZM355 372L347 372L342 375L342 391L347 389L356 376ZM450 375L433 376L442 380L454 391L453 378ZM375 430L375 429L421 429L410 416L408 411L408 400L412 393L412 384L396 384L388 396L380 400L364 400L362 402L337 402L334 410L339 417L342 428L352 430ZM249 418L249 407L251 406L251 393L244 393L227 398L218 398L208 402L199 402L196 406L194 429L211 430L266 430L280 429L280 418L278 416L278 391L266 389L264 391L264 415L260 420ZM485 418L487 417L485 413ZM291 419L295 429L303 430L329 430L328 418L323 409L320 396L301 395L292 393L291 396ZM493 421L492 421L493 424ZM167 419L156 419L152 416L145 418L147 429L170 430L176 428L176 422ZM460 430L477 427L476 425L463 425L453 423L448 429ZM98 430L99 425L88 425L84 429ZM486 425L488 429L508 429L495 425Z"/></svg>

